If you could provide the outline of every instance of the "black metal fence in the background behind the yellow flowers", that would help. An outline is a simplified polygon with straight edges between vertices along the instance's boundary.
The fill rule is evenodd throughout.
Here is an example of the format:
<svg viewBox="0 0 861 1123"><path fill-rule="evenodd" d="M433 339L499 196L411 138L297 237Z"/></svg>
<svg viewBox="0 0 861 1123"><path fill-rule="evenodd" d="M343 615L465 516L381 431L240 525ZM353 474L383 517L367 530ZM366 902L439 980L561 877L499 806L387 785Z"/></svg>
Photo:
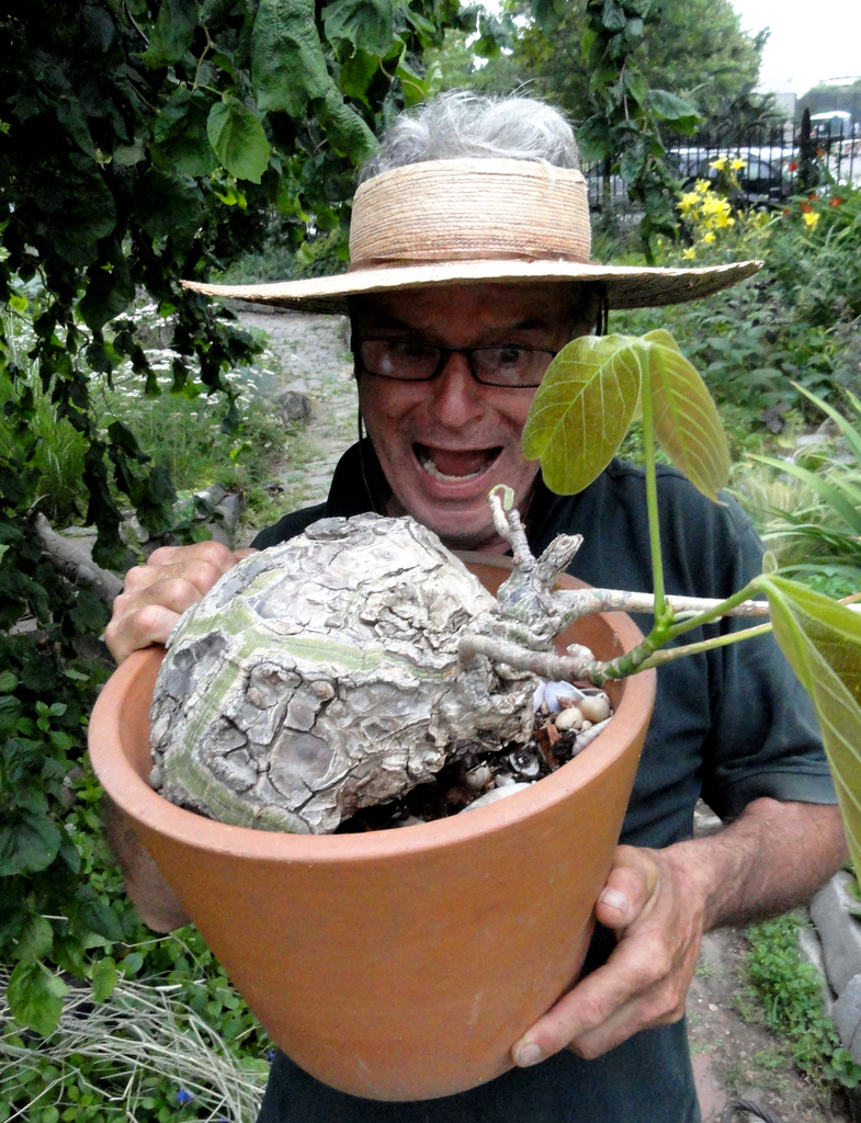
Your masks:
<svg viewBox="0 0 861 1123"><path fill-rule="evenodd" d="M749 126L732 135L670 144L667 149L667 161L685 188L698 179L715 179L712 164L722 156L743 161L734 171L736 202L751 206L776 206L817 186L861 186L861 122L834 128L834 122L810 125L805 119L795 128ZM584 168L584 174L593 210L628 202L620 175L607 174L598 164Z"/></svg>

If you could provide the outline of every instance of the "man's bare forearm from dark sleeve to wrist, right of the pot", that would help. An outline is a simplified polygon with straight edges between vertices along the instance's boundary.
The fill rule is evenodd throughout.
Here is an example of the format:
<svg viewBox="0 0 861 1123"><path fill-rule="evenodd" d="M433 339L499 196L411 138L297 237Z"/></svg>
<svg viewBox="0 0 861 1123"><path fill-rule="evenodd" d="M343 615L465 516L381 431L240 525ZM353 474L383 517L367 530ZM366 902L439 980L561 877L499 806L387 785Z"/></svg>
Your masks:
<svg viewBox="0 0 861 1123"><path fill-rule="evenodd" d="M699 889L708 931L809 900L848 850L836 806L760 798L729 827L669 847L665 856Z"/></svg>

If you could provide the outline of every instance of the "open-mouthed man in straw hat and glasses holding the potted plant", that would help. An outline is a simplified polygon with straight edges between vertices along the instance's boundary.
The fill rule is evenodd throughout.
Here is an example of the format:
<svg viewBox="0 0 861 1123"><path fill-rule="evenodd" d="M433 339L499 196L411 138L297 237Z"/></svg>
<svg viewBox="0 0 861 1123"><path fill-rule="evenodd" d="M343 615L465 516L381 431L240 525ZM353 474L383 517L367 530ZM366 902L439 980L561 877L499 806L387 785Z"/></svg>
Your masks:
<svg viewBox="0 0 861 1123"><path fill-rule="evenodd" d="M520 448L534 387L607 304L693 299L757 263L625 270L588 263L585 185L569 127L519 99L445 95L401 118L359 189L341 277L204 291L291 307L348 307L367 440L329 500L258 536L264 547L324 514L409 513L452 547L504 551L487 493L514 489L530 545L585 535L571 572L650 588L642 473L614 462L578 496L552 496ZM660 472L668 592L725 596L760 547L733 505ZM118 661L163 642L177 614L232 566L217 544L156 551L132 569L108 641ZM726 628L735 627L726 624ZM691 636L691 639L698 637ZM691 839L697 796L727 821ZM129 893L154 928L183 921L157 870L117 822ZM621 846L596 904L586 976L514 1044L511 1072L437 1101L385 1104L327 1088L278 1056L262 1120L599 1123L699 1119L685 996L703 932L779 913L845 860L809 706L770 639L662 668Z"/></svg>

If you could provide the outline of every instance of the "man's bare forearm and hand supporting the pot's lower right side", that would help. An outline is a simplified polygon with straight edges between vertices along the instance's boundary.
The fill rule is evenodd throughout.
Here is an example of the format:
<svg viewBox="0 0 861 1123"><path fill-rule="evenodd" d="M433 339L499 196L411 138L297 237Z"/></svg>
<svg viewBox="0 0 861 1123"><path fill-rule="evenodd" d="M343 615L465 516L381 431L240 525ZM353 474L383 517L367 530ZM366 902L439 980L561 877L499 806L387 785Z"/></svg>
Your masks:
<svg viewBox="0 0 861 1123"><path fill-rule="evenodd" d="M703 933L786 912L846 860L836 806L754 800L732 825L666 850L619 847L595 905L616 933L607 962L512 1049L535 1065L566 1046L594 1058L685 1013Z"/></svg>

